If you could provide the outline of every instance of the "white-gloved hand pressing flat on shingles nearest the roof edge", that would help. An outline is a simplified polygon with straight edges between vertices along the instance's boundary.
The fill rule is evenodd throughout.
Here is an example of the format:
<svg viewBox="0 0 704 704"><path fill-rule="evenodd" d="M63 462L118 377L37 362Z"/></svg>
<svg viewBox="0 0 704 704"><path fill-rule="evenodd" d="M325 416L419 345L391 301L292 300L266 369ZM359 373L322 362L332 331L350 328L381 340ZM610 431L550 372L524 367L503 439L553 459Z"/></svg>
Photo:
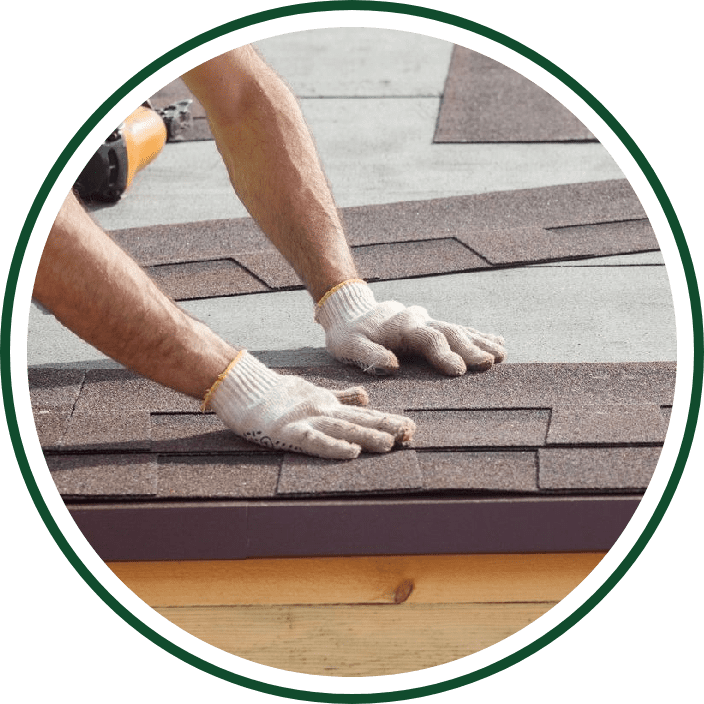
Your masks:
<svg viewBox="0 0 704 704"><path fill-rule="evenodd" d="M410 418L367 408L361 387L330 391L277 374L243 351L206 395L220 420L251 442L317 457L352 459L410 440Z"/></svg>

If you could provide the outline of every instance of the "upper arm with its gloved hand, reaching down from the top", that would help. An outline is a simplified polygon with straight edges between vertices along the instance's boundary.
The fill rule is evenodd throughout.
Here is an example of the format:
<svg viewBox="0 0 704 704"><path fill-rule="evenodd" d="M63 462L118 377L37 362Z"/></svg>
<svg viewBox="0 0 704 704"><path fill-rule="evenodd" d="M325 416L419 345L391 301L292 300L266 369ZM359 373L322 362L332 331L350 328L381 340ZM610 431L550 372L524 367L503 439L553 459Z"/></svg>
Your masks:
<svg viewBox="0 0 704 704"><path fill-rule="evenodd" d="M358 279L296 99L252 47L217 56L183 79L206 110L238 196L317 302L333 356L387 373L399 366L394 352L410 352L450 375L504 359L501 338L433 320L417 306L377 303Z"/></svg>

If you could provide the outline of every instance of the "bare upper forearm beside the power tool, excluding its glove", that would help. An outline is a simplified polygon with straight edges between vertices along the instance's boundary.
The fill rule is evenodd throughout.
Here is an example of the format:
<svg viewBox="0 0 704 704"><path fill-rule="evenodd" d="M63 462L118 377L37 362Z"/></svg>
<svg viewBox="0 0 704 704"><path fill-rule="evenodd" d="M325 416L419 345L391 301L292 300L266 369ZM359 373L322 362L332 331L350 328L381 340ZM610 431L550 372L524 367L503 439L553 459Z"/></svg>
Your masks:
<svg viewBox="0 0 704 704"><path fill-rule="evenodd" d="M294 96L250 47L183 76L203 103L238 196L311 295L357 273Z"/></svg>

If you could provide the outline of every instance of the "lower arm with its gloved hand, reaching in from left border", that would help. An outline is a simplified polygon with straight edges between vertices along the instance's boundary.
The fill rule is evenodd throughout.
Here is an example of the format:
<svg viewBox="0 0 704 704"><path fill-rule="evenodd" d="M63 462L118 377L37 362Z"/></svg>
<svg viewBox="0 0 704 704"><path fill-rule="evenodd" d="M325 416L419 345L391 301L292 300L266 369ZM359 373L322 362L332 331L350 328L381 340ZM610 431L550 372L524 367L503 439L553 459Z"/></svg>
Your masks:
<svg viewBox="0 0 704 704"><path fill-rule="evenodd" d="M69 193L49 233L34 298L81 338L125 366L210 403L239 435L272 447L351 458L410 439L412 421L344 404L333 392L268 369L165 296Z"/></svg>

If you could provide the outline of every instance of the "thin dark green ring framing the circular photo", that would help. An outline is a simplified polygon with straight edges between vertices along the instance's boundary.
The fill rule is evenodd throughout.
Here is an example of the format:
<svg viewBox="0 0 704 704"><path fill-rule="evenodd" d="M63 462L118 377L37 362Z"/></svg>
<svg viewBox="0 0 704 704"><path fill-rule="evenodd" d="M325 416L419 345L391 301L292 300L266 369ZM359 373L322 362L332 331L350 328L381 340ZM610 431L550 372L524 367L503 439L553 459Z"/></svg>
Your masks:
<svg viewBox="0 0 704 704"><path fill-rule="evenodd" d="M25 260L27 248L29 246L29 239L32 232L36 226L37 220L40 213L49 198L52 189L54 188L56 181L65 170L66 165L72 159L75 152L81 147L85 142L87 135L95 132L96 128L105 121L109 116L109 113L115 109L115 107L123 101L123 99L136 90L142 85L144 81L154 76L158 71L166 68L176 59L180 58L184 54L205 44L222 39L226 35L232 32L241 31L244 29L249 29L261 25L263 23L272 22L276 20L289 19L298 15L310 15L319 13L329 13L330 11L345 12L349 10L356 11L366 11L374 12L379 14L403 14L412 18L427 20L431 22L436 22L441 25L448 25L449 27L456 28L463 32L469 32L473 35L483 37L489 42L498 44L510 52L513 52L530 63L538 66L546 74L554 77L557 81L562 83L568 90L578 96L581 101L613 132L616 138L625 147L628 154L635 161L637 166L640 168L643 176L645 177L647 183L652 189L655 198L657 199L665 219L667 220L670 229L672 231L673 238L677 245L677 250L680 256L681 265L684 273L684 279L689 292L690 299L690 314L693 322L693 343L696 350L700 350L702 346L702 340L704 338L704 325L702 323L702 308L701 300L698 295L698 287L696 281L696 274L694 272L694 265L691 259L691 253L689 247L684 238L684 233L682 232L681 225L677 218L677 215L672 207L669 197L665 192L660 180L649 164L648 160L644 154L640 151L638 146L633 142L630 135L623 129L623 127L618 123L615 117L583 86L572 79L568 74L562 71L552 62L548 61L545 57L541 56L532 49L526 47L519 42L512 40L496 30L489 27L480 25L478 23L472 22L465 18L459 17L457 15L452 15L446 12L433 10L430 8L423 8L414 5L406 5L402 3L394 2L359 2L359 3L346 3L346 2L310 2L298 5L289 6L286 8L277 8L270 11L264 11L259 13L254 13L248 15L239 20L225 23L219 27L215 27L212 30L204 32L189 41L186 41L176 47L175 49L163 54L161 57L153 61L147 67L135 74L131 79L126 81L120 88L118 88L108 99L106 99L102 105L100 105L94 113L85 121L81 128L76 132L74 137L70 140L61 155L58 157L54 163L52 169L49 171L47 177L42 183L42 186L35 197L32 206L28 212L27 219L25 220L24 227L20 233L18 244L13 252L12 261L10 264L8 272L8 289L16 290L18 287L18 281L20 276L20 270L22 263ZM22 245L24 247L22 248ZM2 318L0 319L0 339L5 342L11 341L11 328L13 325L13 312L14 312L14 302L8 302L7 298L3 302L2 308ZM45 497L42 496L42 491L39 485L36 483L36 478L34 477L31 466L27 459L26 450L22 443L22 437L19 430L19 419L16 413L15 398L26 397L26 386L22 389L19 387L10 387L9 385L3 385L3 402L6 409L8 429L10 431L10 437L12 441L13 450L15 451L16 459L20 467L20 471L24 478L27 489L30 493L30 497L37 508L43 522L49 529L52 537L56 541L57 545L61 549L62 553L72 565L72 567L78 572L81 578L95 591L95 593L106 603L106 605L111 608L118 616L120 616L126 623L135 628L143 636L154 642L157 646L164 649L166 652L178 657L179 659L187 662L188 664L197 667L198 669L206 672L212 676L219 677L226 681L230 681L234 684L238 684L255 691L271 694L275 696L285 696L288 698L305 700L305 701L324 701L324 702L337 702L337 701L375 701L375 702L391 702L399 700L407 700L412 698L424 697L432 694L438 694L447 692L451 689L456 689L458 687L466 686L473 682L477 682L486 677L492 676L501 672L502 670L511 667L512 665L522 661L526 657L534 654L538 650L542 649L550 642L555 640L557 637L561 636L567 630L572 628L576 623L578 623L584 616L586 616L607 594L611 589L618 583L618 581L626 574L628 569L633 565L635 560L640 556L643 549L647 545L648 541L652 537L653 533L660 524L665 511L667 510L672 497L677 489L677 485L681 479L684 471L685 464L688 459L689 452L692 447L694 440L694 432L696 429L698 421L698 409L702 397L702 368L701 362L702 355L695 354L694 361L696 364L696 369L694 369L693 379L692 379L692 389L690 394L690 403L688 409L688 415L686 418L686 423L684 427L684 432L682 435L681 445L677 453L677 457L674 462L673 470L667 480L666 485L662 489L662 493L659 501L654 507L650 518L647 520L645 527L643 528L640 535L633 543L632 547L629 549L628 553L621 562L618 563L615 569L604 579L604 581L599 585L597 589L572 613L561 620L557 625L552 626L549 630L543 633L541 636L532 640L528 644L524 645L518 650L510 653L507 656L502 657L490 664L483 667L475 669L473 672L454 677L449 680L444 680L431 685L424 685L422 687L416 687L412 689L403 689L395 691L387 691L383 695L379 692L372 693L368 691L366 693L344 693L344 692L330 692L326 691L311 691L305 689L293 689L289 687L282 687L280 685L275 685L271 683L264 683L259 680L252 678L246 678L239 674L232 672L224 667L219 667L214 665L212 662L200 658L194 655L191 651L181 648L177 644L173 643L168 638L164 637L161 633L156 632L151 629L147 624L145 624L138 617L124 607L122 602L118 600L111 591L109 591L96 577L96 575L91 572L91 570L85 565L81 558L77 555L73 546L68 542L65 535L61 532L61 529L55 522L54 516L51 514L51 509L47 506L45 502ZM0 368L9 369L10 366L10 344L3 344L2 346L2 356L0 356ZM8 375L8 378L10 376ZM680 385L678 384L678 387ZM679 391L679 388L678 388ZM13 394L13 392L15 392ZM678 401L680 396L678 395ZM25 398L26 402L26 398ZM19 404L21 406L21 404ZM679 410L679 405L678 405ZM13 412L14 411L14 412ZM661 463L662 464L662 463ZM659 472L658 476L662 476ZM651 491L648 492L652 495ZM638 514L642 515L643 506L639 508ZM628 530L628 529L627 529ZM623 542L620 540L619 542ZM581 590L580 590L581 591ZM574 599L568 597L571 602ZM571 605L571 604L570 604ZM556 607L558 609L558 607ZM564 609L563 609L564 610ZM554 610L553 610L554 611ZM546 617L543 617L543 621ZM146 632L145 632L146 631ZM515 636L510 640L515 641ZM504 641L505 642L505 641ZM488 653L493 651L494 648L484 651ZM481 655L481 654L478 654ZM231 656L229 656L231 657ZM478 656L473 656L473 661L476 661ZM484 658L486 659L486 658ZM463 661L466 661L466 658ZM450 667L441 666L444 669ZM258 666L261 668L261 666ZM268 668L263 668L268 669ZM457 669L457 668L454 668ZM278 672L278 671L277 671ZM312 678L310 676L304 675L293 675L292 678L305 678L305 679L316 679L318 681L324 678ZM407 675L402 676L390 676L384 678L385 682L392 680L395 677L403 677L408 680ZM338 679L340 682L342 678ZM376 678L377 680L379 678ZM360 684L364 683L367 678L345 678L345 686L349 680L353 682L358 682ZM348 690L349 691L349 690ZM401 695L401 696L397 696Z"/></svg>

